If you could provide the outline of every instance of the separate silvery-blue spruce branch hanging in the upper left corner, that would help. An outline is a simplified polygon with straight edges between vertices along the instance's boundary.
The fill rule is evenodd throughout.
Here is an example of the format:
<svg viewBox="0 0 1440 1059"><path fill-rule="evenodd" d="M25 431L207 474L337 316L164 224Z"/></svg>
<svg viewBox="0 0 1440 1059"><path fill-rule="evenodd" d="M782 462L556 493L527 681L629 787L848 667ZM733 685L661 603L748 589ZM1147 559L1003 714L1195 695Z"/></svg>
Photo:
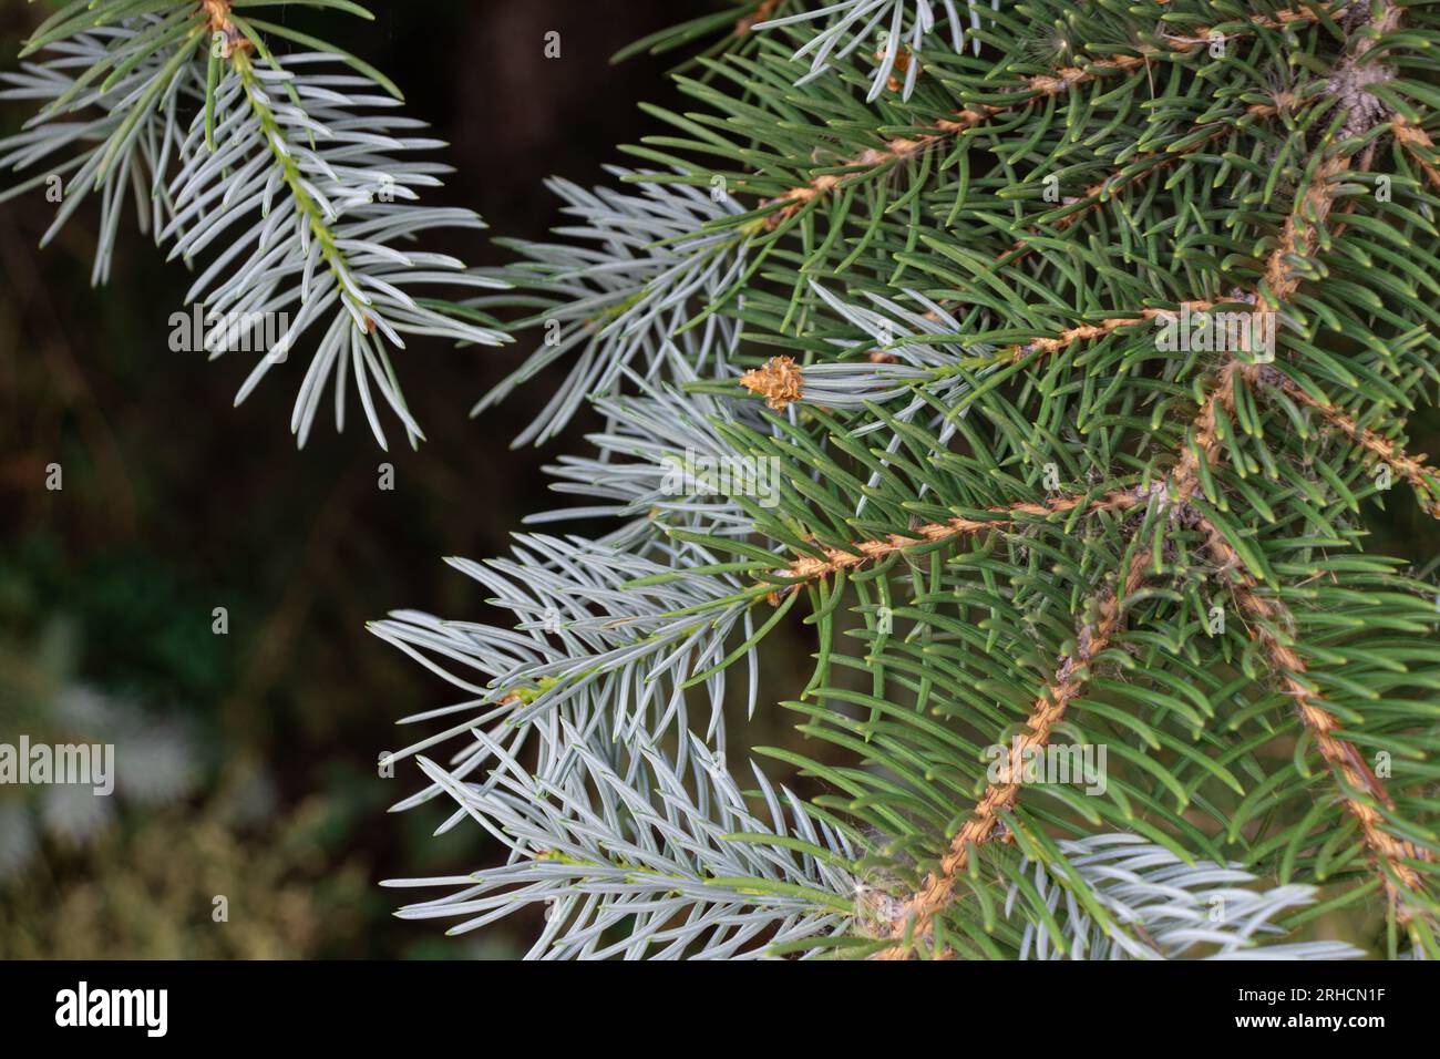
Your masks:
<svg viewBox="0 0 1440 1059"><path fill-rule="evenodd" d="M374 17L357 4L333 6ZM48 102L24 131L0 144L0 154L9 150L4 161L35 167L72 143L94 144L60 166L60 173L75 173L46 239L91 184L102 189L96 282L108 275L127 186L135 190L141 225L170 243L171 258L194 265L217 248L187 295L203 334L184 341L173 334L171 347L212 357L258 353L236 403L324 321L291 418L300 444L331 383L343 429L350 375L382 448L379 405L416 444L423 435L400 393L393 350L406 347L406 336L484 346L508 336L452 301L409 290L468 291L498 281L449 255L390 243L436 228L484 225L469 210L409 205L416 187L439 186L448 169L402 161L442 144L410 135L420 122L374 112L399 105L399 89L384 75L323 40L242 14L245 7L229 0L71 4L24 50L59 58L29 66L24 76L7 75L14 85L9 98ZM266 35L312 50L278 58ZM186 127L189 110L194 117ZM95 111L99 117L63 121ZM53 176L42 173L12 193ZM190 313L176 317L189 326Z"/></svg>

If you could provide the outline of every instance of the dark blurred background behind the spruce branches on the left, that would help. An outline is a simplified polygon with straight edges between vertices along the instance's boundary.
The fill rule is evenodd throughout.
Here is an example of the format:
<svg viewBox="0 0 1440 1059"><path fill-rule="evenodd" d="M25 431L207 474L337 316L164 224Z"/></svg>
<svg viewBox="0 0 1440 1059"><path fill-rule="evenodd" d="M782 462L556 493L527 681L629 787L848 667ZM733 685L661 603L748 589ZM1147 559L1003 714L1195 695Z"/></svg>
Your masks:
<svg viewBox="0 0 1440 1059"><path fill-rule="evenodd" d="M6 68L56 6L0 0ZM491 232L444 249L480 265L504 259L490 236L556 223L544 177L602 180L616 144L655 128L636 102L677 102L670 61L609 58L713 6L370 7L374 23L287 17L389 73L452 144L441 199ZM550 30L559 59L543 55ZM27 115L0 105L0 128ZM168 350L189 278L148 238L130 232L112 282L91 290L91 205L45 251L43 195L0 205L0 742L120 741L125 765L112 798L0 788L0 957L520 954L533 922L445 938L395 919L408 895L376 885L474 870L487 850L475 828L433 839L438 811L386 813L413 790L403 771L377 777L377 755L403 745L393 722L449 697L364 624L400 607L482 615L442 556L498 553L554 506L540 468L590 424L511 452L556 376L471 421L526 349L418 343L396 367L429 437L419 452L382 455L363 419L297 452L298 376L233 409L243 357ZM382 460L395 491L376 487ZM52 463L62 491L45 488ZM212 633L217 607L228 635Z"/></svg>

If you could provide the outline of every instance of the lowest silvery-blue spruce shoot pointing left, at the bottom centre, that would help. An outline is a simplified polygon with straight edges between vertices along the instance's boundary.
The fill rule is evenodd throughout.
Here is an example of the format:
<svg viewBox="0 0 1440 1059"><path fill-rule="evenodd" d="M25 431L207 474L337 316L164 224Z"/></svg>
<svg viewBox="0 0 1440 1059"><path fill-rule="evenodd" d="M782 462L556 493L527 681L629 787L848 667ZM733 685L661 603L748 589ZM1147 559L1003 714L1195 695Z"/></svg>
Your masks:
<svg viewBox="0 0 1440 1059"><path fill-rule="evenodd" d="M498 762L485 788L435 762L420 767L511 850L503 867L472 877L389 880L387 886L458 888L403 908L406 919L458 918L472 931L516 908L543 905L546 928L531 955L642 955L672 960L757 958L775 945L814 945L842 931L858 856L851 836L814 818L792 792L755 769L769 820L704 746L694 784L644 738L598 752L569 722L572 767L534 777L475 732ZM746 843L732 836L746 837ZM621 937L615 928L628 926Z"/></svg>

